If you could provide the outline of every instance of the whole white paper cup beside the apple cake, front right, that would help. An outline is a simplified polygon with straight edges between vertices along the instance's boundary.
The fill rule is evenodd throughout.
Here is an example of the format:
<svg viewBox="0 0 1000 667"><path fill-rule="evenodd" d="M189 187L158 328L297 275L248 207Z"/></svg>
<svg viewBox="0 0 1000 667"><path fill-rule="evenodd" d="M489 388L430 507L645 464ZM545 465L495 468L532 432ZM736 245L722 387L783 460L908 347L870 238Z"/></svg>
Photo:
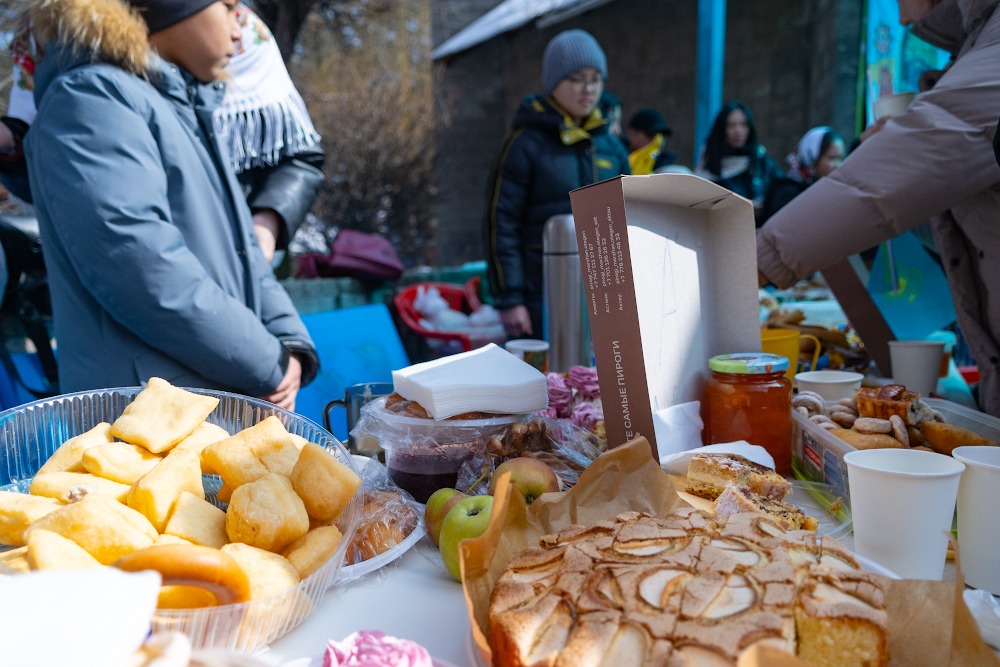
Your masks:
<svg viewBox="0 0 1000 667"><path fill-rule="evenodd" d="M940 580L965 464L917 449L844 455L858 554L904 579Z"/></svg>

